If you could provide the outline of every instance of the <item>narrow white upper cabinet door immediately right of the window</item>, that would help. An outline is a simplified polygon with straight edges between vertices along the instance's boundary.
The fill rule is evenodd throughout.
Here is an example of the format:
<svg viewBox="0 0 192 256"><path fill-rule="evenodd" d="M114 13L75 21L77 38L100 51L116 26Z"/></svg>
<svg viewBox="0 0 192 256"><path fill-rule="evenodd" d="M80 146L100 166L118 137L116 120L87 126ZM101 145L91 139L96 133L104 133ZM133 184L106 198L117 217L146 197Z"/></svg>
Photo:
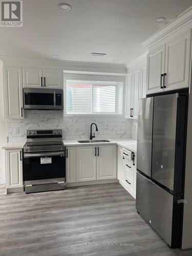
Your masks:
<svg viewBox="0 0 192 256"><path fill-rule="evenodd" d="M127 75L125 117L131 118L133 72Z"/></svg>

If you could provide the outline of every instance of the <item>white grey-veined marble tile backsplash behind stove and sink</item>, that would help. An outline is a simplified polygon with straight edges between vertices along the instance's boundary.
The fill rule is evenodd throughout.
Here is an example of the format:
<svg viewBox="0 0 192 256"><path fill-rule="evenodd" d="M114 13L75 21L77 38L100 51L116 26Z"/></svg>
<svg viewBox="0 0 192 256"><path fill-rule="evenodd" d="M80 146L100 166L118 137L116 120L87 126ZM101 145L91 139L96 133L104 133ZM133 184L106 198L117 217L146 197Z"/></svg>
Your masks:
<svg viewBox="0 0 192 256"><path fill-rule="evenodd" d="M27 110L24 119L9 119L9 141L25 141L27 130L62 129L63 139L88 139L95 122L96 139L135 138L136 122L124 117L67 117L62 111ZM133 135L132 135L133 134Z"/></svg>

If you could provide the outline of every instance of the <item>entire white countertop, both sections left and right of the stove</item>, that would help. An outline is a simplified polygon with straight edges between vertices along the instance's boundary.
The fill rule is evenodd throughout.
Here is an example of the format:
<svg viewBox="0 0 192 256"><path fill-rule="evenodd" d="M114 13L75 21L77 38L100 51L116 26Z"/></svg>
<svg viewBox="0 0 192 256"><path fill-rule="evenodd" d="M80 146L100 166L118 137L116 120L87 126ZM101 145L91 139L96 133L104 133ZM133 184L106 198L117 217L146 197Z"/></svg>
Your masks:
<svg viewBox="0 0 192 256"><path fill-rule="evenodd" d="M65 146L90 146L90 145L109 145L116 144L127 148L134 153L137 152L137 140L134 139L109 139L110 142L96 142L96 143L79 143L77 140L63 140ZM8 142L2 148L4 150L11 150L16 148L23 148L26 141Z"/></svg>

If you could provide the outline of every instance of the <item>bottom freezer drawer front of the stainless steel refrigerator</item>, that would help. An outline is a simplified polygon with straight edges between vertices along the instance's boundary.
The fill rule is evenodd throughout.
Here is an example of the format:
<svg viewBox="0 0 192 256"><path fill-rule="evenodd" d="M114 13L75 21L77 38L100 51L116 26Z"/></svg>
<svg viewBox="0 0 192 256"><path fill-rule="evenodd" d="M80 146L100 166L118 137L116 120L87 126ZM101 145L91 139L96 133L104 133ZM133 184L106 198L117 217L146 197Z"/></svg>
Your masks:
<svg viewBox="0 0 192 256"><path fill-rule="evenodd" d="M173 195L137 172L136 209L172 245Z"/></svg>

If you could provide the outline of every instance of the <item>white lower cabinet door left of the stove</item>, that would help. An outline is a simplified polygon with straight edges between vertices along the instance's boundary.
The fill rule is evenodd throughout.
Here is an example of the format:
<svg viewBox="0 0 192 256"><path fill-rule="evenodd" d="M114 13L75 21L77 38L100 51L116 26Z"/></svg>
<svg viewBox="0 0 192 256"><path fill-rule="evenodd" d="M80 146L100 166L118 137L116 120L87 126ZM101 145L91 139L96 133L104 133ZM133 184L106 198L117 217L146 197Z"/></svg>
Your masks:
<svg viewBox="0 0 192 256"><path fill-rule="evenodd" d="M6 186L23 187L22 150L6 150Z"/></svg>

